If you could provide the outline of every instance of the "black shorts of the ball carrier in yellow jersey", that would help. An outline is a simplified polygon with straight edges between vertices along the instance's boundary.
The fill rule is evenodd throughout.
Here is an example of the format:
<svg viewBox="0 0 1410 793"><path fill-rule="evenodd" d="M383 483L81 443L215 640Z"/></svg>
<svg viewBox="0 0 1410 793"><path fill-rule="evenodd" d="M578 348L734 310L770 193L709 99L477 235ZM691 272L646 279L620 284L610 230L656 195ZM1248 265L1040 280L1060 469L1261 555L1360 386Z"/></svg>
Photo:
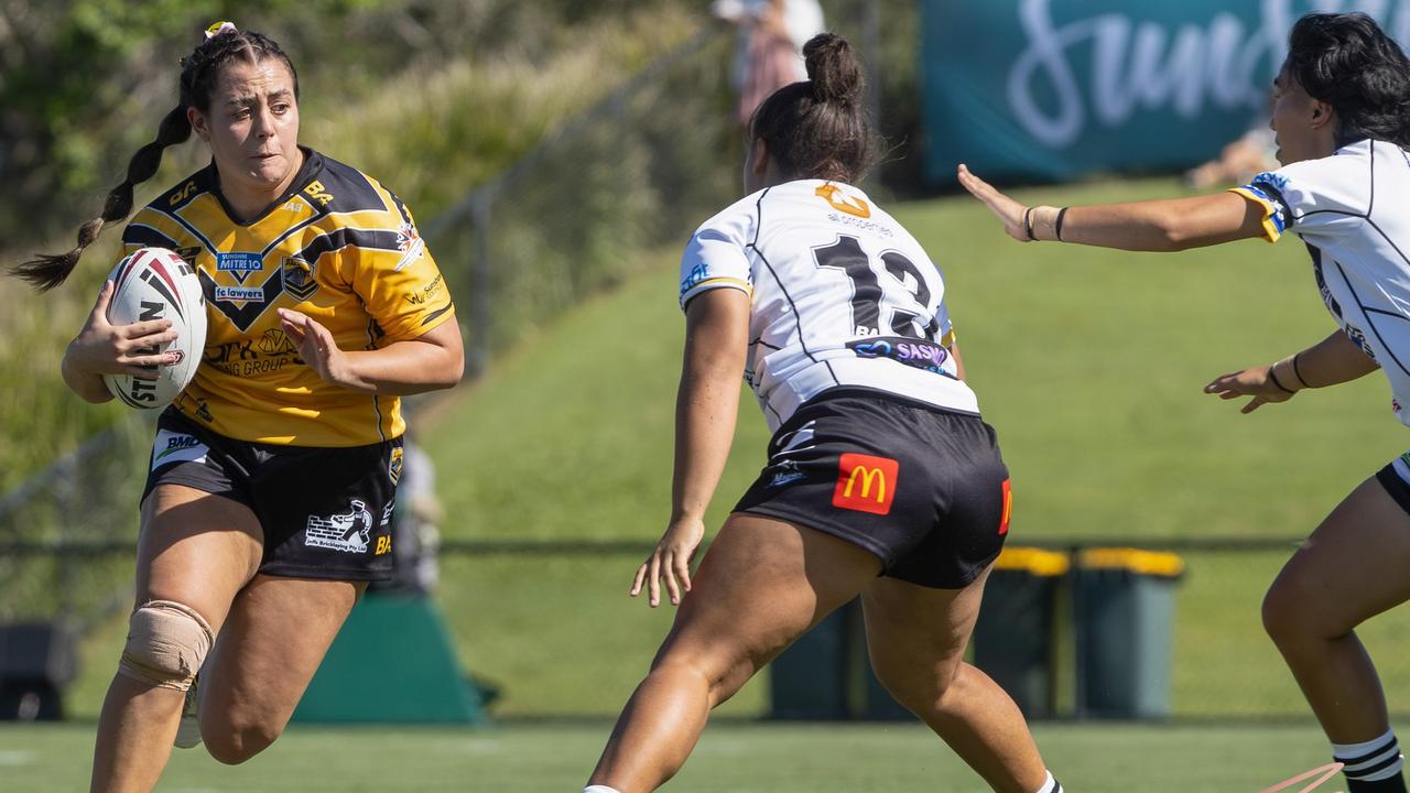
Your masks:
<svg viewBox="0 0 1410 793"><path fill-rule="evenodd" d="M179 484L244 504L264 528L259 571L268 576L385 581L400 476L400 437L329 449L250 443L168 408L142 498Z"/></svg>

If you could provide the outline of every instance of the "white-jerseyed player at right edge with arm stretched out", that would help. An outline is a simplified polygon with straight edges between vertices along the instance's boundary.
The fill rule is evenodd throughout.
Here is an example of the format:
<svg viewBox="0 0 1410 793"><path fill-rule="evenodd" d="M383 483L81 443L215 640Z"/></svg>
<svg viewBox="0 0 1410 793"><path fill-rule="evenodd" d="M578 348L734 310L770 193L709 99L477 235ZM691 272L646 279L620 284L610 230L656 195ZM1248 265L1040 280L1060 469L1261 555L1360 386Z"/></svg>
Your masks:
<svg viewBox="0 0 1410 793"><path fill-rule="evenodd" d="M1301 237L1327 310L1327 339L1206 385L1241 412L1382 370L1410 423L1410 61L1365 14L1293 25L1273 82L1283 168L1230 192L1105 206L1026 207L959 167L960 183L1021 241L1173 251ZM1385 693L1355 628L1410 600L1410 453L1323 519L1263 600L1263 625L1345 763L1349 793L1404 792Z"/></svg>

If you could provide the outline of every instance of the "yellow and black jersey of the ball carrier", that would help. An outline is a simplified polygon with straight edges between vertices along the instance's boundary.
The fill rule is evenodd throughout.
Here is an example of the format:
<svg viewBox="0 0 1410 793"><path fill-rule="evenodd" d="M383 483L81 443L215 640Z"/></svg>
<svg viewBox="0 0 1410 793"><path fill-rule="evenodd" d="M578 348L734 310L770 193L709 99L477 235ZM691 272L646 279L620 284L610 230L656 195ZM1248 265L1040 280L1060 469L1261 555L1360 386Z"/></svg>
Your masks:
<svg viewBox="0 0 1410 793"><path fill-rule="evenodd" d="M303 150L279 200L237 223L210 165L138 212L124 255L176 251L196 267L207 332L196 378L176 408L213 432L258 443L362 446L402 435L396 396L324 382L279 329L303 312L341 350L416 339L451 316L450 292L412 213L375 179Z"/></svg>

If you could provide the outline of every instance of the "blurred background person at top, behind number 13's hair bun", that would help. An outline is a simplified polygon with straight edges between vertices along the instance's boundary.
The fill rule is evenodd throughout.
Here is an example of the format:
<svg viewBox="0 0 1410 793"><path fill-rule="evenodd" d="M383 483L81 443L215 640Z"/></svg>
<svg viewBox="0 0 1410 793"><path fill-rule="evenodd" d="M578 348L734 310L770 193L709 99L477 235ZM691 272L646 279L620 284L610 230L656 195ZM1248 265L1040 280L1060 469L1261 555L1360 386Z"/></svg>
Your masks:
<svg viewBox="0 0 1410 793"><path fill-rule="evenodd" d="M730 85L735 120L747 127L768 95L808 79L802 45L823 31L822 7L818 0L715 0L711 11L739 27Z"/></svg>

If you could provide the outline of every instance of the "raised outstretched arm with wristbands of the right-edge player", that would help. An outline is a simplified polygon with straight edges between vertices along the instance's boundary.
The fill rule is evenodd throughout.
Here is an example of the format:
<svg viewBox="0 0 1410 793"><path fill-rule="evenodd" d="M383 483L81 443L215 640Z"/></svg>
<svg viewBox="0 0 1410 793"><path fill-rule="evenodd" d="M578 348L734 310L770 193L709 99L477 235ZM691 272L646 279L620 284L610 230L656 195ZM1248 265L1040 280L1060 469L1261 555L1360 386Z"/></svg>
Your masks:
<svg viewBox="0 0 1410 793"><path fill-rule="evenodd" d="M1263 236L1265 207L1239 195L1108 203L1024 206L964 165L960 185L984 202L1019 241L1080 243L1128 251L1182 251Z"/></svg>

